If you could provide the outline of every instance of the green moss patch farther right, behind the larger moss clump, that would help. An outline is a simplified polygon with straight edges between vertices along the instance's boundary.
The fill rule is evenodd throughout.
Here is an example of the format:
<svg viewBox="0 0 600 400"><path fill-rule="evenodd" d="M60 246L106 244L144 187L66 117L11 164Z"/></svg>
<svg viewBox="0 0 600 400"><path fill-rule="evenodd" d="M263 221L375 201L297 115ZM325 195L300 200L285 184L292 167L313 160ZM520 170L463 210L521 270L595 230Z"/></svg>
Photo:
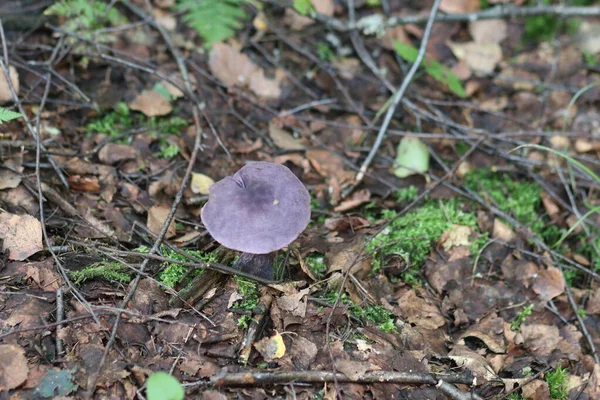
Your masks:
<svg viewBox="0 0 600 400"><path fill-rule="evenodd" d="M512 180L510 176L480 169L465 177L467 187L498 208L513 215L517 221L541 235L544 221L539 218L542 189L535 182Z"/></svg>

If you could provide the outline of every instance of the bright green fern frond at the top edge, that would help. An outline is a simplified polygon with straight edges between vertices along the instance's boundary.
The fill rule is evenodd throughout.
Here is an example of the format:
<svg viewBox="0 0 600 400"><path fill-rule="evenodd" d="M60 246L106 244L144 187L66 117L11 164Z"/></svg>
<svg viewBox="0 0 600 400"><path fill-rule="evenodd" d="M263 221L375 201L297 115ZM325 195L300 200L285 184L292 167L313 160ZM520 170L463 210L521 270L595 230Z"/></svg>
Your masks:
<svg viewBox="0 0 600 400"><path fill-rule="evenodd" d="M206 47L235 35L248 15L247 0L179 0L175 10L184 11L183 21L205 40Z"/></svg>

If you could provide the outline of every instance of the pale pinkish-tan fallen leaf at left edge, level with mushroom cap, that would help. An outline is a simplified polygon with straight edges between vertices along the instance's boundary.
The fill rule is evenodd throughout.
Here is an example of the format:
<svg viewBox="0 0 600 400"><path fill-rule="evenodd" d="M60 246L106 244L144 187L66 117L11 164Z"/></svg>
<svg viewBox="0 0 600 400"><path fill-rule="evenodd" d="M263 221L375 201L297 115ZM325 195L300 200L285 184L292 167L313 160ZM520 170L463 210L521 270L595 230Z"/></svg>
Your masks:
<svg viewBox="0 0 600 400"><path fill-rule="evenodd" d="M44 248L42 224L31 215L0 213L0 239L9 260L24 260Z"/></svg>

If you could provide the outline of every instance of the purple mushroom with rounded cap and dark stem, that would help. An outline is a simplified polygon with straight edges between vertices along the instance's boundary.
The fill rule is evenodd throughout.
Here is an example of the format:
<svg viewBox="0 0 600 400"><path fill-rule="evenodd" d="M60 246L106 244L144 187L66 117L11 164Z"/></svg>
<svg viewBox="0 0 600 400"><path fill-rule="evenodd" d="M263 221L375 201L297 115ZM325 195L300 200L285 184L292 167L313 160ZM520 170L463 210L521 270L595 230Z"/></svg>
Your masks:
<svg viewBox="0 0 600 400"><path fill-rule="evenodd" d="M287 167L253 162L210 187L201 217L217 242L242 252L234 267L272 279L272 253L308 225L310 195Z"/></svg>

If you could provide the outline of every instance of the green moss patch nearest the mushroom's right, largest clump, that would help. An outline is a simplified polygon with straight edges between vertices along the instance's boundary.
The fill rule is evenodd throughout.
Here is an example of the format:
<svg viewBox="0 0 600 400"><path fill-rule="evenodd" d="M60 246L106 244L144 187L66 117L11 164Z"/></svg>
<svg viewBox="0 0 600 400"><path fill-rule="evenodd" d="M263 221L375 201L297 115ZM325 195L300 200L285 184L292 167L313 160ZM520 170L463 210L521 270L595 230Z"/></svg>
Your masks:
<svg viewBox="0 0 600 400"><path fill-rule="evenodd" d="M431 252L433 243L453 224L476 227L477 217L463 211L459 200L429 200L392 221L367 246L367 251L373 253L375 271L381 268L386 256L398 255L409 264L408 272L416 274ZM384 210L382 215L391 219L396 212Z"/></svg>

